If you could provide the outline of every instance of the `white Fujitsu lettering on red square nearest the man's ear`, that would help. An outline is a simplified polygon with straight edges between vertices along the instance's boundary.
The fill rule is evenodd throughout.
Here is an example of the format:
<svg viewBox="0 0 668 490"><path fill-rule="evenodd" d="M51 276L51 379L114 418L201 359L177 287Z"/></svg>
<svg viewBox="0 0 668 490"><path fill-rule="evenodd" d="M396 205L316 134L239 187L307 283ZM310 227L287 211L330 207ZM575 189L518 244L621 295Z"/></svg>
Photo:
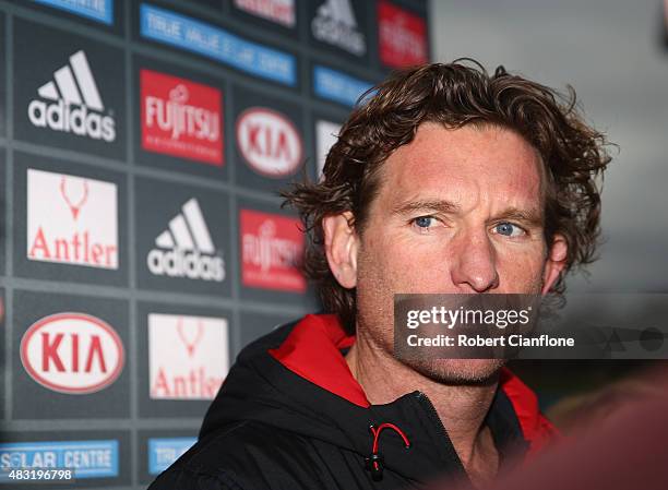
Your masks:
<svg viewBox="0 0 668 490"><path fill-rule="evenodd" d="M260 225L258 235L243 235L243 261L259 265L263 272L271 267L295 267L301 252L301 243L276 237L272 219Z"/></svg>

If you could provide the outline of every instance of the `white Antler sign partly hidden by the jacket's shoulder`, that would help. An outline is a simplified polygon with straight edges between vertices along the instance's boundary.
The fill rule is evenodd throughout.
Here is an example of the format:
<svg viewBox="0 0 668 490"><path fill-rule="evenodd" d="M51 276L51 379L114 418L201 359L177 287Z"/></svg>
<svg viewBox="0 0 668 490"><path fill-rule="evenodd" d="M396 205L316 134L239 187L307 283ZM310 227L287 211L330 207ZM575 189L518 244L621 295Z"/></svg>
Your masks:
<svg viewBox="0 0 668 490"><path fill-rule="evenodd" d="M148 315L152 398L212 399L228 367L225 319L160 313Z"/></svg>

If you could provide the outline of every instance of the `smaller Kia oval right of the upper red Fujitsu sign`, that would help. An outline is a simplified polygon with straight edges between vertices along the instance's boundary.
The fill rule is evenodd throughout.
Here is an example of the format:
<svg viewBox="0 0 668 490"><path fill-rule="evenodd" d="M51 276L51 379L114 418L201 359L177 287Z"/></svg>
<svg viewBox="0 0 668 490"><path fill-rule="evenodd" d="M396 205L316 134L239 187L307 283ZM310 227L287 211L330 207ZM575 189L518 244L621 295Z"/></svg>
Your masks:
<svg viewBox="0 0 668 490"><path fill-rule="evenodd" d="M251 168L265 177L282 178L301 165L299 131L284 115L253 107L237 119L237 143Z"/></svg>

